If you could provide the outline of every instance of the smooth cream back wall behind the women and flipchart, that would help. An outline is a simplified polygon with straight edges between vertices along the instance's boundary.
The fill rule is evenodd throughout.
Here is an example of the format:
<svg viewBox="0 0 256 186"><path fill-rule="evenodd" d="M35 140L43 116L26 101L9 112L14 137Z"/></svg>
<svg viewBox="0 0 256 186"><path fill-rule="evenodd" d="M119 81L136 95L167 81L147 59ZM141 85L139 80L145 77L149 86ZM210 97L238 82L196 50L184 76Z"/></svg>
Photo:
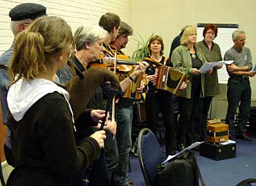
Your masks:
<svg viewBox="0 0 256 186"><path fill-rule="evenodd" d="M131 26L143 37L148 37L153 32L161 35L165 43L165 55L169 56L172 39L184 25L238 23L239 29L247 33L246 46L250 48L255 64L255 10L255 0L131 0ZM133 38L138 39L138 35L135 33ZM131 39L129 47L133 48L135 45L136 42ZM256 99L256 77L250 82L252 98ZM219 97L226 97L226 85L221 85Z"/></svg>

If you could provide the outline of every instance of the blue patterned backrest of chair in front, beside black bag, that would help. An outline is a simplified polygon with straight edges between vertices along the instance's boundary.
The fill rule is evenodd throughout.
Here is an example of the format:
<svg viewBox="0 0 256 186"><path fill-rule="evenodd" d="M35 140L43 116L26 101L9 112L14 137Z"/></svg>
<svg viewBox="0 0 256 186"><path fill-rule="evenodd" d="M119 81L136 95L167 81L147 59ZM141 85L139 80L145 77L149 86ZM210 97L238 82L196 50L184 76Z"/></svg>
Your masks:
<svg viewBox="0 0 256 186"><path fill-rule="evenodd" d="M163 163L165 154L156 136L148 128L140 130L138 135L138 160L146 185L153 185L156 165Z"/></svg>

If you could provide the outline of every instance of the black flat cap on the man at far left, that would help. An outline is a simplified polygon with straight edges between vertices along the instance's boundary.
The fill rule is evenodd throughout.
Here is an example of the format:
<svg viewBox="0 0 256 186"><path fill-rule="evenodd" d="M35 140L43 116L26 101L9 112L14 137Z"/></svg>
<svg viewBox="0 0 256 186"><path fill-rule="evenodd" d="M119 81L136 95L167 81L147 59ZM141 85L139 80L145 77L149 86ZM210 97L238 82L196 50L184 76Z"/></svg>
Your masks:
<svg viewBox="0 0 256 186"><path fill-rule="evenodd" d="M23 19L36 19L46 15L46 7L36 3L22 3L9 12L12 21L20 21Z"/></svg>

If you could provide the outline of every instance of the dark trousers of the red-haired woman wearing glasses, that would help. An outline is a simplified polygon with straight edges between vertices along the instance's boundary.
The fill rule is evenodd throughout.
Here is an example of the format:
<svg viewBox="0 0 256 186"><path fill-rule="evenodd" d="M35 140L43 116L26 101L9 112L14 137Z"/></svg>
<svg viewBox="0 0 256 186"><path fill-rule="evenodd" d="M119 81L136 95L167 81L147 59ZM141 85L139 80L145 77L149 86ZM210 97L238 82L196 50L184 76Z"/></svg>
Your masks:
<svg viewBox="0 0 256 186"><path fill-rule="evenodd" d="M199 98L199 117L198 122L194 125L194 139L195 141L205 141L206 135L206 121L208 118L208 111L212 96Z"/></svg>

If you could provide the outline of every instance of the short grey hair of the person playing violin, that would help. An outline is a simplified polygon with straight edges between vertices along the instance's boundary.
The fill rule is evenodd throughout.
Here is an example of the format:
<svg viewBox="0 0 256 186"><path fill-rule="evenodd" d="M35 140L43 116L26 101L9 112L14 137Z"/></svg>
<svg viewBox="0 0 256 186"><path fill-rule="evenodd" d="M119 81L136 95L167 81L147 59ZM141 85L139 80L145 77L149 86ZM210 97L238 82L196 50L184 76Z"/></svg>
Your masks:
<svg viewBox="0 0 256 186"><path fill-rule="evenodd" d="M108 35L108 32L99 25L84 24L75 30L74 41L76 50L82 50L85 48L84 43L94 43L99 39L104 39Z"/></svg>

